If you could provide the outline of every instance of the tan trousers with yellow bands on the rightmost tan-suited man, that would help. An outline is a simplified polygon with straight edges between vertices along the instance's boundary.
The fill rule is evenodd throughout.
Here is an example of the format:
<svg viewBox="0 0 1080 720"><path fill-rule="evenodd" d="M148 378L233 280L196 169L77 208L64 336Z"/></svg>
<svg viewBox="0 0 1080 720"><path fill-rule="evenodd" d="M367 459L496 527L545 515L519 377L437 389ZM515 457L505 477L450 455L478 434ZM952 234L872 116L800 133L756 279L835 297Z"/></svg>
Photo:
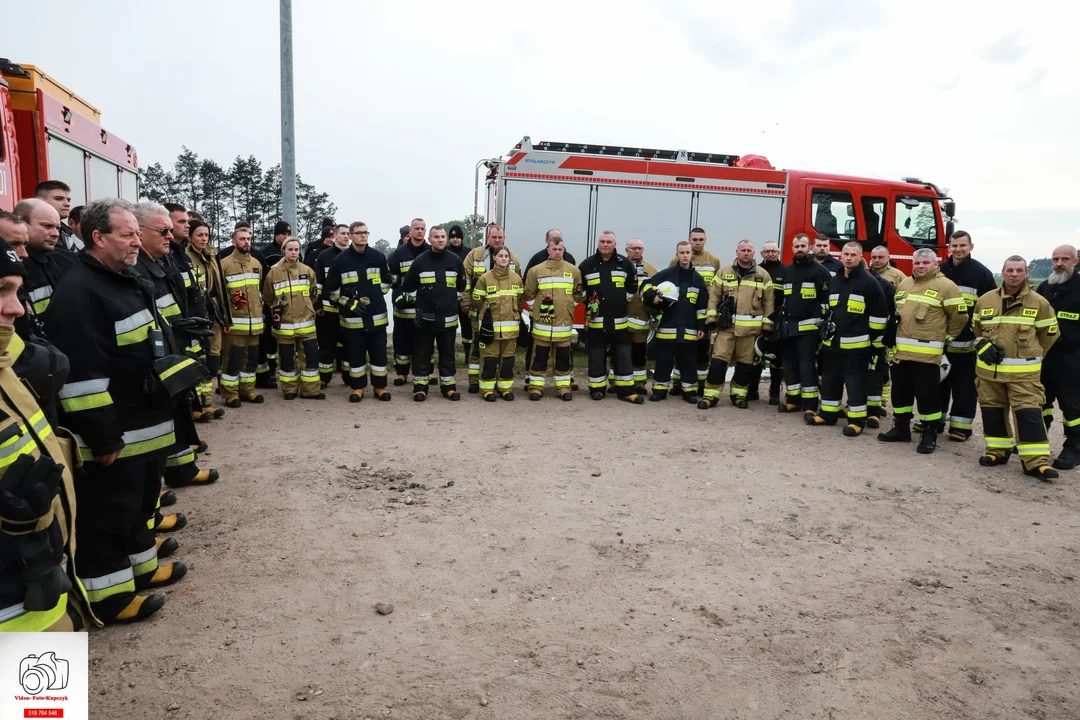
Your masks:
<svg viewBox="0 0 1080 720"><path fill-rule="evenodd" d="M975 378L978 404L983 412L983 435L986 452L1003 457L1013 441L1009 430L1009 413L1016 416L1016 452L1024 467L1032 470L1050 464L1050 443L1042 424L1042 383L995 382Z"/></svg>

